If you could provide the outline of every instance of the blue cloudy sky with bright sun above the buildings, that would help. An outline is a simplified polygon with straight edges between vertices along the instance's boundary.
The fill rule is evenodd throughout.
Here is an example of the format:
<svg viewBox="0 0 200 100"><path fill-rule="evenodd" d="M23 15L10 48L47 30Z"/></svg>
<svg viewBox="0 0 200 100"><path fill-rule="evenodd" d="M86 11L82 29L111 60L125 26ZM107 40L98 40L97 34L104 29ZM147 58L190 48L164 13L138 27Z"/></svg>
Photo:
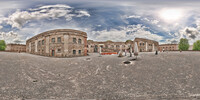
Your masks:
<svg viewBox="0 0 200 100"><path fill-rule="evenodd" d="M0 40L25 44L45 31L75 29L89 40L200 40L200 0L0 0Z"/></svg>

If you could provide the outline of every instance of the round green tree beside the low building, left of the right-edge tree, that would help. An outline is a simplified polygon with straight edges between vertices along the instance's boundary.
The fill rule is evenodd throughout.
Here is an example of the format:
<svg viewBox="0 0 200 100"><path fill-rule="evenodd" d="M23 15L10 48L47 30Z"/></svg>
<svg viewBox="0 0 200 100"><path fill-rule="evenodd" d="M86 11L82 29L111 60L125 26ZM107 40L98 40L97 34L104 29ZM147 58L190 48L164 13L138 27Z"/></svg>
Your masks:
<svg viewBox="0 0 200 100"><path fill-rule="evenodd" d="M188 39L184 39L184 38L182 38L182 39L180 39L180 42L179 42L179 44L178 44L178 48L179 48L179 50L188 50L189 49L189 43L188 43Z"/></svg>

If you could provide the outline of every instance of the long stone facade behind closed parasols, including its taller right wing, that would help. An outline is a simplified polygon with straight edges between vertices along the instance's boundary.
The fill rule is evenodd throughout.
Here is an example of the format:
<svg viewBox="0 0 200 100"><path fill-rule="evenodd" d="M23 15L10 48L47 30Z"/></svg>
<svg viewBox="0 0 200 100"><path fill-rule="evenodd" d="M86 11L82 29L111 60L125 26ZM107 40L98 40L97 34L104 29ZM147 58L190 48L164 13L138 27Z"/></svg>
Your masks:
<svg viewBox="0 0 200 100"><path fill-rule="evenodd" d="M135 42L137 43L139 52L154 52L158 50L159 43L157 41L144 39L144 38L135 38L134 41L128 42L113 42L113 41L106 41L106 42L97 42L88 40L88 52L99 52L100 47L102 52L119 52L119 51L129 51L132 48L134 52L134 45Z"/></svg>

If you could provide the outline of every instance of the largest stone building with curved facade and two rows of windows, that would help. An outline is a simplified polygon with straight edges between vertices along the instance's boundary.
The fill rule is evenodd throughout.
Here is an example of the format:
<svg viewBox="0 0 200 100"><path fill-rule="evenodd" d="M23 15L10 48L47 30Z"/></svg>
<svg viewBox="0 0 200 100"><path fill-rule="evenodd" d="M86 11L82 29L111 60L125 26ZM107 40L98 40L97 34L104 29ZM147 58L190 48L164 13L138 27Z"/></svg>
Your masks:
<svg viewBox="0 0 200 100"><path fill-rule="evenodd" d="M87 33L56 29L38 34L26 41L26 52L53 57L87 55Z"/></svg>

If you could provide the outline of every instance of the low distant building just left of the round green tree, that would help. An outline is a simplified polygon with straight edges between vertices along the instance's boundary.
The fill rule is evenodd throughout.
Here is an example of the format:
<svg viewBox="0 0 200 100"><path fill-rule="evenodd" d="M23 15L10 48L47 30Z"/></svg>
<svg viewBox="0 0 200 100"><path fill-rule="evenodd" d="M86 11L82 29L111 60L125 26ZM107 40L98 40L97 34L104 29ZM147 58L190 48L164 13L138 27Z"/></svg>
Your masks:
<svg viewBox="0 0 200 100"><path fill-rule="evenodd" d="M177 51L178 50L178 44L161 44L159 45L159 51Z"/></svg>

